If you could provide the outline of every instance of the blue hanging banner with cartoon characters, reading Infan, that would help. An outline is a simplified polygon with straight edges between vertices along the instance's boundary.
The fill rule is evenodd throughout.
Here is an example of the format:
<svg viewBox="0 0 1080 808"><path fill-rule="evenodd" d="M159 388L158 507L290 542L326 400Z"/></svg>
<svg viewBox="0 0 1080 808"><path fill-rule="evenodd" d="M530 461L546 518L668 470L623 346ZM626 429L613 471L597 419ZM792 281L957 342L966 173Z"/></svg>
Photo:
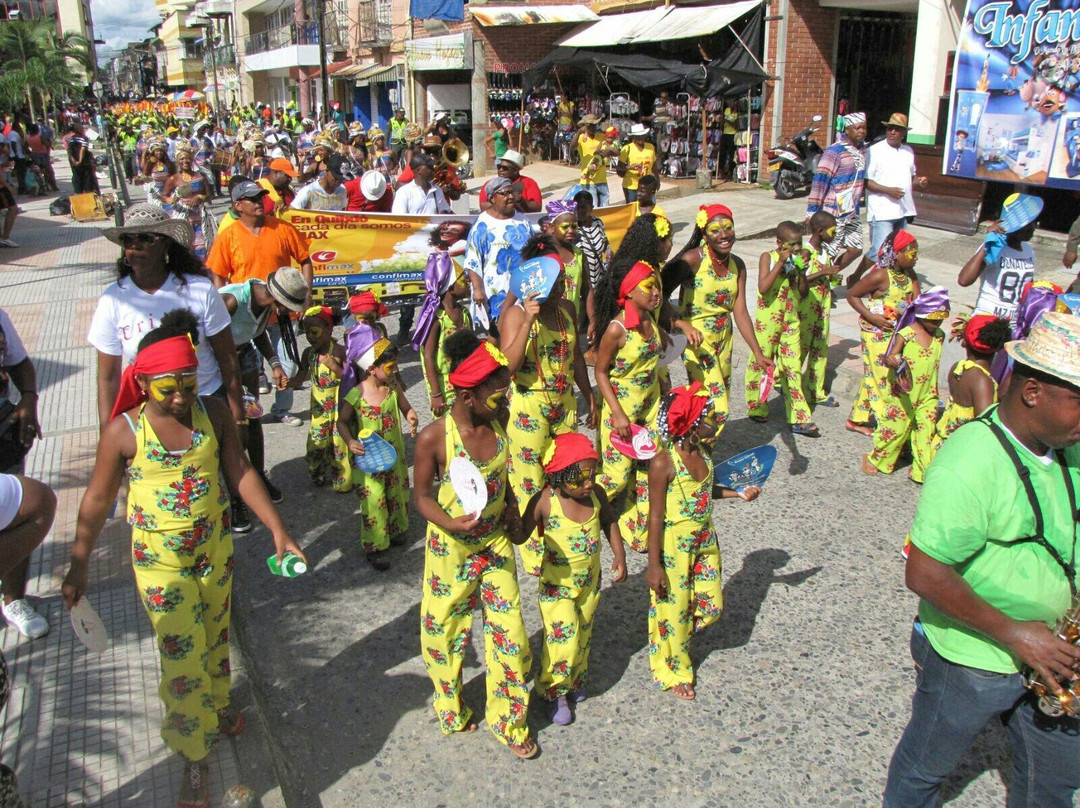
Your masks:
<svg viewBox="0 0 1080 808"><path fill-rule="evenodd" d="M943 173L1080 188L1080 0L969 0Z"/></svg>

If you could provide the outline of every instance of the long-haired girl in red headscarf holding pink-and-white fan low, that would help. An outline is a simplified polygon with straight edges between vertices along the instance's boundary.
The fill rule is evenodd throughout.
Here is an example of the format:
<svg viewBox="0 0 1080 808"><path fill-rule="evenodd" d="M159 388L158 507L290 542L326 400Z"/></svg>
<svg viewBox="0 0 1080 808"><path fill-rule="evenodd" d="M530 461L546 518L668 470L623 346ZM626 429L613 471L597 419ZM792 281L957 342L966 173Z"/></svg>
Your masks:
<svg viewBox="0 0 1080 808"><path fill-rule="evenodd" d="M611 445L611 435L630 439L632 425L652 427L660 406L660 355L663 338L656 321L660 308L660 261L671 252L671 223L646 214L658 248L647 260L633 260L630 250L620 247L596 289L596 324L603 328L596 355L596 388L604 399L598 443L600 473L597 482L611 501L625 490L619 521L623 538L639 553L646 549L649 488L646 464L635 462ZM639 219L640 220L640 219ZM662 235L661 235L662 233ZM639 233L635 233L638 241ZM623 244L625 246L625 242ZM631 262L633 260L633 262Z"/></svg>

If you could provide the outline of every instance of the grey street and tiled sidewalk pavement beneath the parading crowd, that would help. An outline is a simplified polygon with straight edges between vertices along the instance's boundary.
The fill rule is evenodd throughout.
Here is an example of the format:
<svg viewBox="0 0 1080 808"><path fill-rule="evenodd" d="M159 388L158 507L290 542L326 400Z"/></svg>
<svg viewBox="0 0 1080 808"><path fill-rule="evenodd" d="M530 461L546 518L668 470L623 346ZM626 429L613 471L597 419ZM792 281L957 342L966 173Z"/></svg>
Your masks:
<svg viewBox="0 0 1080 808"><path fill-rule="evenodd" d="M62 176L65 162L56 164ZM551 190L577 176L552 164L525 173ZM667 185L665 196L687 191ZM677 247L705 200L733 210L743 239L735 252L753 289L771 230L801 219L805 200L782 202L745 186L672 196L661 204ZM75 639L58 596L96 445L95 363L85 334L112 279L117 251L98 232L110 223L51 218L44 200L22 204L14 238L23 246L0 253L0 305L27 344L42 392L45 437L28 473L58 493L59 509L30 585L53 630L32 643L14 630L0 637L14 678L0 759L16 769L33 808L170 806L179 767L158 735L157 652L133 591L123 520L109 523L91 566L89 597L112 639L105 655ZM975 289L956 289L955 278L977 240L915 232L924 282L949 285L954 310L973 302ZM1040 242L1037 256L1040 270L1067 282L1055 271L1061 247L1059 240ZM265 528L237 537L233 670L248 729L212 754L211 804L235 783L253 786L268 808L878 802L914 688L907 642L916 600L904 587L899 550L918 488L903 469L878 477L859 469L869 440L843 430L860 372L858 331L845 302L833 314L833 390L842 406L815 414L819 440L793 436L777 399L767 425L745 418L739 391L746 351L737 339L735 394L717 458L765 443L780 455L757 501L716 503L725 612L693 646L698 699L679 701L651 684L645 558L631 553L629 579L604 581L589 699L569 727L552 725L542 704L530 712L542 750L530 762L502 749L483 723L474 735L438 732L419 655L420 520L413 513L406 546L391 551L391 570L372 570L353 495L311 486L305 429L267 426L270 475L285 491L282 512L312 568L298 579L274 578ZM950 350L943 374L958 358ZM416 355L405 354L401 368L422 427L430 416ZM685 379L681 368L672 371L676 383ZM307 394L298 394L295 412L305 422L306 406ZM411 440L406 450L411 461ZM607 549L604 563L610 566ZM535 579L523 575L522 589L539 659ZM465 699L478 716L482 638L477 624L464 670ZM988 727L950 779L948 804L1002 804L1008 777L1003 732Z"/></svg>

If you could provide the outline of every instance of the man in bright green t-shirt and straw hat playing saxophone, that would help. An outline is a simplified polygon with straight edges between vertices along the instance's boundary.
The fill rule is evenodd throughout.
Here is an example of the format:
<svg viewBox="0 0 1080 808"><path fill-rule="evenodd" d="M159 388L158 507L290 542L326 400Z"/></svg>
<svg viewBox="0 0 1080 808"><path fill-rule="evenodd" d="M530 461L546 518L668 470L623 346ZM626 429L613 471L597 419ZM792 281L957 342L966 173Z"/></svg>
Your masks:
<svg viewBox="0 0 1080 808"><path fill-rule="evenodd" d="M917 689L886 808L935 806L991 718L1012 749L1010 806L1068 808L1080 787L1080 711L1055 698L1080 678L1080 648L1048 630L1080 612L1080 318L1043 314L1005 350L1001 403L944 443L912 526Z"/></svg>

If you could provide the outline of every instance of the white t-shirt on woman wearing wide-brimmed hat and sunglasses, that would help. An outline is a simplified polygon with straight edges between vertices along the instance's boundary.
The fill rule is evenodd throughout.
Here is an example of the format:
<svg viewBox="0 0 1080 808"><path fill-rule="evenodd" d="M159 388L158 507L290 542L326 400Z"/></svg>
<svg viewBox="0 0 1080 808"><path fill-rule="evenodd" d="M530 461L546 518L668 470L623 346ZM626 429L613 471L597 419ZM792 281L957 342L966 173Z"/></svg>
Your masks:
<svg viewBox="0 0 1080 808"><path fill-rule="evenodd" d="M127 367L135 361L138 344L161 324L173 309L187 309L199 321L199 392L210 395L221 387L221 371L210 346L210 337L230 326L229 310L207 278L188 275L181 285L175 274L152 295L131 278L109 284L97 301L86 339L102 353L122 356Z"/></svg>

